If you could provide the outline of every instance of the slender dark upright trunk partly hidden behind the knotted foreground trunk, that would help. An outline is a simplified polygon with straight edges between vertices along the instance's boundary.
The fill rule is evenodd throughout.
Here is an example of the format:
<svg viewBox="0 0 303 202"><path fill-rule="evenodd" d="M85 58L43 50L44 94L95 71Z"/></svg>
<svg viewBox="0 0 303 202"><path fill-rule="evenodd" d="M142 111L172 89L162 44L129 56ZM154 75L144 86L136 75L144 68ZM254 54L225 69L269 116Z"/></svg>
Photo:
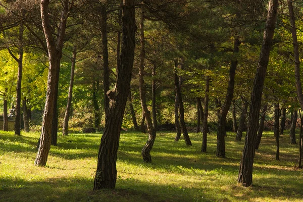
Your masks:
<svg viewBox="0 0 303 202"><path fill-rule="evenodd" d="M110 90L110 73L109 73L109 52L108 52L108 40L107 40L107 12L106 4L101 3L100 6L100 28L102 33L102 53L103 53L103 69L104 69L104 110L105 115L108 113L110 100L107 96L107 92ZM117 59L118 60L118 59Z"/></svg>

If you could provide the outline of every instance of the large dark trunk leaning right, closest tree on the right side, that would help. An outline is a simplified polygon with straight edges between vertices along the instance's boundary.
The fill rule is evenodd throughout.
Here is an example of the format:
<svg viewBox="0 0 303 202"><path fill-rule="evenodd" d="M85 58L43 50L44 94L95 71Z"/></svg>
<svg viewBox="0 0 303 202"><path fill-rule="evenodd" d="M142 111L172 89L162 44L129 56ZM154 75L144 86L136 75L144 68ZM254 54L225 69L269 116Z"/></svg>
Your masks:
<svg viewBox="0 0 303 202"><path fill-rule="evenodd" d="M252 165L255 157L255 142L258 132L262 91L275 30L278 4L278 0L269 1L261 53L251 92L247 132L238 175L238 182L245 187L252 184Z"/></svg>

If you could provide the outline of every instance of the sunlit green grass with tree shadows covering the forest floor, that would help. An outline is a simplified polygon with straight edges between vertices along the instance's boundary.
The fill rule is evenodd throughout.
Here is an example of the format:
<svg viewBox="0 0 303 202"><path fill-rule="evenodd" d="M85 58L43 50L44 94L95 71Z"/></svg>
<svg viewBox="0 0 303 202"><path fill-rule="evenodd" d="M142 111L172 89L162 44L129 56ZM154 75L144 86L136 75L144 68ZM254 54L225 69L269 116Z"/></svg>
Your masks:
<svg viewBox="0 0 303 202"><path fill-rule="evenodd" d="M147 135L121 134L115 190L92 191L101 134L58 137L44 168L34 166L38 133L0 131L0 201L302 201L303 172L296 169L298 146L265 132L256 152L253 186L237 184L243 140L226 137L227 158L217 158L216 134L208 153L200 153L201 133L191 133L192 146L174 142L174 133L159 132L145 164L140 151Z"/></svg>

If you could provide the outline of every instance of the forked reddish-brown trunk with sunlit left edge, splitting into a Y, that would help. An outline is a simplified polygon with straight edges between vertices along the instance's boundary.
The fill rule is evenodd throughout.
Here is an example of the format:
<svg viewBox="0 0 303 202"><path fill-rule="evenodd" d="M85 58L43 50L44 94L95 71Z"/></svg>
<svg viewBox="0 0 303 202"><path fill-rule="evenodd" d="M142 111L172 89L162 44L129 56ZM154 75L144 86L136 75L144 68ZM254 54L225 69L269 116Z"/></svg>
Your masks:
<svg viewBox="0 0 303 202"><path fill-rule="evenodd" d="M40 141L38 146L38 153L35 160L36 166L45 166L49 149L51 148L51 135L52 135L52 123L54 115L54 104L57 99L56 90L57 78L60 71L60 59L62 57L62 48L64 35L66 30L66 21L69 15L69 2L64 0L62 1L63 10L61 15L61 21L58 27L57 40L54 39L52 33L51 23L49 21L48 14L48 5L49 0L41 0L40 2L40 11L41 11L41 20L42 28L46 38L47 52L48 52L48 78L47 78L47 91L45 99L45 107L42 119L42 130L40 135ZM57 42L56 42L57 41Z"/></svg>

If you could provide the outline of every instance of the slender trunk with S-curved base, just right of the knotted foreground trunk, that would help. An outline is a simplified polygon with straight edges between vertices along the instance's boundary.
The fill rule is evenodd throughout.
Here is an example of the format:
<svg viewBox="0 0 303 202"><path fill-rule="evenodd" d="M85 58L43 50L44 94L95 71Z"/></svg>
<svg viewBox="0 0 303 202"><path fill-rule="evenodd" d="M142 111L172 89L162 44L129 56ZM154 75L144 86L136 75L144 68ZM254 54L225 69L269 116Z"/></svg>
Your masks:
<svg viewBox="0 0 303 202"><path fill-rule="evenodd" d="M150 113L146 105L146 96L144 88L144 59L145 59L145 39L144 39L144 14L141 9L141 19L140 19L140 67L139 67L139 92L141 99L141 107L145 117L148 140L146 141L144 147L142 148L141 155L145 163L151 163L150 151L153 148L156 139L156 130L153 127L153 122L151 121Z"/></svg>

